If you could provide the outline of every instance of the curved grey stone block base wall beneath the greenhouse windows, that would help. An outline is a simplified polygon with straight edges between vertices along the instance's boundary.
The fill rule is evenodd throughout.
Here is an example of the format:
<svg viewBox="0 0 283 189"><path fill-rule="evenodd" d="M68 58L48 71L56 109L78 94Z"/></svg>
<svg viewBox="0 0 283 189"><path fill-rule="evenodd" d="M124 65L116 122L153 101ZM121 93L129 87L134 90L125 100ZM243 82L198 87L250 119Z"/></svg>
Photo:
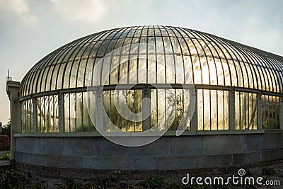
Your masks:
<svg viewBox="0 0 283 189"><path fill-rule="evenodd" d="M16 137L15 155L17 168L55 177L118 173L122 178L140 178L179 171L183 175L187 170L226 171L282 159L280 130L263 134L163 136L143 147L122 147L103 137Z"/></svg>

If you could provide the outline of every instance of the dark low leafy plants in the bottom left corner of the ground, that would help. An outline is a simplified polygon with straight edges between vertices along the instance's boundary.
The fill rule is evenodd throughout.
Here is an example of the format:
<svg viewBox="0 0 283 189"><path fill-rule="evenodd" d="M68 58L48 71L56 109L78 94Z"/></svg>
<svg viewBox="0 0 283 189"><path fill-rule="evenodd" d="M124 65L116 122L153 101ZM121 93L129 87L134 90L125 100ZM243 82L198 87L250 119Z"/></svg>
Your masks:
<svg viewBox="0 0 283 189"><path fill-rule="evenodd" d="M25 188L27 178L23 171L6 170L1 171L0 188Z"/></svg>

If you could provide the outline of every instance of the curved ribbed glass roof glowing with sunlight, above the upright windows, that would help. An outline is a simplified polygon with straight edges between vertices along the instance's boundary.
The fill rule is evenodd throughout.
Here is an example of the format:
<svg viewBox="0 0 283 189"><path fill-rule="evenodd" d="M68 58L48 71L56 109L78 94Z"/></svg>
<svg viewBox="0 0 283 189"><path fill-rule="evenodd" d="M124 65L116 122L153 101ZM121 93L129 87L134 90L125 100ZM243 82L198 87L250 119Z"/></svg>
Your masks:
<svg viewBox="0 0 283 189"><path fill-rule="evenodd" d="M185 79L177 81L166 66L158 64L165 62L171 64L176 74L190 74L193 84L277 93L283 90L283 57L197 30L154 25L105 30L59 47L28 71L21 82L20 96L86 87L93 67L105 55L111 57L111 62L125 63L111 71L106 81L109 85L117 84L123 76L137 69L156 71L165 79L146 74L127 79L126 84L185 83ZM141 59L143 56L146 60ZM103 67L109 69L111 63ZM103 72L93 77L100 78L101 74Z"/></svg>

